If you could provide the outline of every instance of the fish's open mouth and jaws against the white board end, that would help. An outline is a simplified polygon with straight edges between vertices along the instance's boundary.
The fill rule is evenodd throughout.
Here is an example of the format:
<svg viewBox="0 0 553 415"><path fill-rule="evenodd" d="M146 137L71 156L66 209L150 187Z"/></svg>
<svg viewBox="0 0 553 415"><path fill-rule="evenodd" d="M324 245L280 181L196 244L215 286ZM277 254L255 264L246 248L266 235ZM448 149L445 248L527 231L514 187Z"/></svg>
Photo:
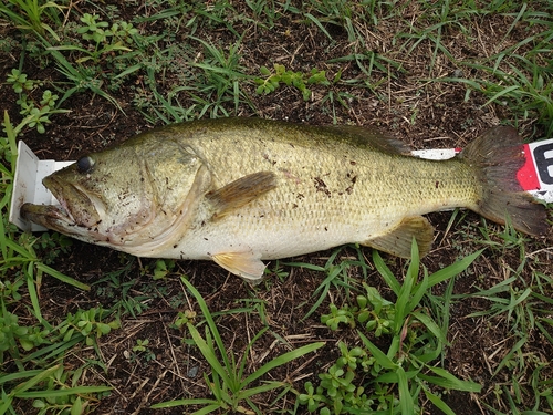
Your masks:
<svg viewBox="0 0 553 415"><path fill-rule="evenodd" d="M60 205L23 204L23 218L67 235L81 235L97 228L102 221L98 210L105 211L98 198L90 197L77 186L52 176L45 177L42 183Z"/></svg>

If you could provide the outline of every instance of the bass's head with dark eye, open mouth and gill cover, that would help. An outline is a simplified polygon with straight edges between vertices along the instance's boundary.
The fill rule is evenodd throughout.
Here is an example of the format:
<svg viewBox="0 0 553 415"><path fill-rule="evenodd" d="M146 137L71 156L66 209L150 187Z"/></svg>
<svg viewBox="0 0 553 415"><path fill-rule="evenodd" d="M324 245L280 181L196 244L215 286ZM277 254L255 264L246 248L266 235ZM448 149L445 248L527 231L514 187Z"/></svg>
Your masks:
<svg viewBox="0 0 553 415"><path fill-rule="evenodd" d="M150 134L150 133L148 133ZM209 172L177 141L137 137L43 179L60 205L24 204L24 218L73 238L147 256L186 226Z"/></svg>

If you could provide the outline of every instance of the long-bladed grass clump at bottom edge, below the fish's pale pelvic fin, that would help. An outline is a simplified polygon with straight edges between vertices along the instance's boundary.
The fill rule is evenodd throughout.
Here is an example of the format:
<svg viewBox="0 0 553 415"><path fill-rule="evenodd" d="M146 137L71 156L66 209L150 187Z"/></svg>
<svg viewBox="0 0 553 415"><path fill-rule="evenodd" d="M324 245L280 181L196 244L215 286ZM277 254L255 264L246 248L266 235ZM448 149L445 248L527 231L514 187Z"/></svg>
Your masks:
<svg viewBox="0 0 553 415"><path fill-rule="evenodd" d="M219 334L219 330L217 329L217 324L215 323L213 318L200 293L186 278L181 278L181 280L187 290L189 290L198 301L198 305L200 307L204 319L207 323L204 338L191 322L188 321L186 325L188 328L188 331L190 332L190 335L192 336L192 344L196 344L198 346L201 354L211 366L211 375L205 374L204 377L213 397L195 397L189 400L164 402L153 405L152 408L166 408L181 405L202 405L204 407L195 412L194 414L209 414L216 411L249 413L249 409L242 406L243 402L246 402L246 404L251 409L253 409L255 413L260 413L260 409L250 400L252 396L276 388L288 390L290 388L290 385L286 385L285 382L279 381L267 381L260 386L250 386L251 383L260 380L261 376L263 376L272 369L285 365L286 363L301 357L306 353L313 352L324 345L323 342L316 342L284 353L263 364L252 374L246 376L244 370L249 351L253 343L255 343L255 341L258 341L261 335L263 335L263 333L267 331L267 328L262 329L251 340L246 349L244 354L237 362L234 355L229 355L229 352L226 350L222 339Z"/></svg>

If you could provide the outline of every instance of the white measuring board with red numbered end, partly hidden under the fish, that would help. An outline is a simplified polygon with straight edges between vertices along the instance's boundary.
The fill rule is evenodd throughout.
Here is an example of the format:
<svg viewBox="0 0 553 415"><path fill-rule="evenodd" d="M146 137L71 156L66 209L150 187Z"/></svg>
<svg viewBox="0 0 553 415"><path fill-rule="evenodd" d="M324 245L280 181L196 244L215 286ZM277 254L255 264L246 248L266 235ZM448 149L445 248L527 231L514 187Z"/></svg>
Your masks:
<svg viewBox="0 0 553 415"><path fill-rule="evenodd" d="M455 157L460 148L421 149L411 154L420 158L448 159ZM517 174L522 188L536 199L553 203L553 138L524 144L524 166ZM35 205L59 205L55 197L42 185L42 179L55 170L75 162L40 160L22 142L18 145L18 160L10 204L10 222L21 230L39 231L45 228L30 222L20 216L24 203Z"/></svg>

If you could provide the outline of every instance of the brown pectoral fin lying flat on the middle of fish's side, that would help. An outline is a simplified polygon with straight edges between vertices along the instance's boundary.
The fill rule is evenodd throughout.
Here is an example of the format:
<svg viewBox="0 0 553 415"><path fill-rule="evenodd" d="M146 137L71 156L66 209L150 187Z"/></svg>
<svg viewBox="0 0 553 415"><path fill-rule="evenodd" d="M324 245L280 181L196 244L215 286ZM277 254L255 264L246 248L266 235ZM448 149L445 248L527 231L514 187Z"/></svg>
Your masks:
<svg viewBox="0 0 553 415"><path fill-rule="evenodd" d="M213 219L221 218L276 187L276 176L271 172L258 172L240 177L206 197L213 206Z"/></svg>

